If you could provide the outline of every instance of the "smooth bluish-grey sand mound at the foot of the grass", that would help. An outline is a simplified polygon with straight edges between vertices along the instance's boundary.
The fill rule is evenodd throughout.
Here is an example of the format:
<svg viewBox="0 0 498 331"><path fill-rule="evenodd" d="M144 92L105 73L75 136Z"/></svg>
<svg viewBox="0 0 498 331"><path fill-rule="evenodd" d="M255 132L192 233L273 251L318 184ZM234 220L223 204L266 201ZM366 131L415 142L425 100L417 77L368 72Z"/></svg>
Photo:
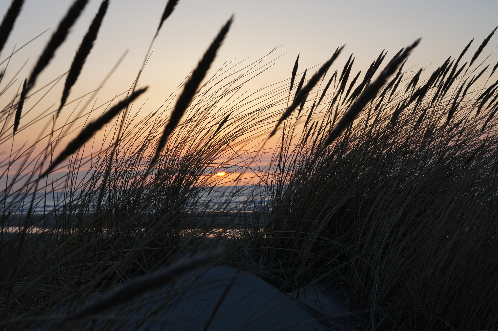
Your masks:
<svg viewBox="0 0 498 331"><path fill-rule="evenodd" d="M192 284L183 278L173 289L186 286L188 290L173 294L159 291L153 304L142 305L139 313L130 317L125 330L187 331L204 330L220 296L236 269L214 267ZM190 279L190 280L188 280ZM168 295L169 293L169 295ZM171 298L173 295L173 298ZM167 302L161 304L161 302ZM131 307L130 307L131 308ZM140 321L137 321L141 320ZM135 329L138 324L141 326ZM299 300L289 297L260 278L242 272L228 292L210 331L263 330L351 330L359 326L358 316L351 314L319 288L309 288ZM123 330L117 326L118 329Z"/></svg>

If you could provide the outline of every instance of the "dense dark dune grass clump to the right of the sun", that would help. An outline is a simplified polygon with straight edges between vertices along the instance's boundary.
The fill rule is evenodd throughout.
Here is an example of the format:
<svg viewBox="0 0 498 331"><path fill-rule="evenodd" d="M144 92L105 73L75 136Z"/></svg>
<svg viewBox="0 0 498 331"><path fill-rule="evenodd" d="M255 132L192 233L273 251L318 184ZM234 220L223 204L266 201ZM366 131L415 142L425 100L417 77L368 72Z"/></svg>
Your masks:
<svg viewBox="0 0 498 331"><path fill-rule="evenodd" d="M460 58L425 80L399 69L359 110L375 83L354 101L339 79L290 119L270 180L285 184L267 187L278 216L252 262L273 266L266 279L342 289L372 329L497 327L498 95Z"/></svg>

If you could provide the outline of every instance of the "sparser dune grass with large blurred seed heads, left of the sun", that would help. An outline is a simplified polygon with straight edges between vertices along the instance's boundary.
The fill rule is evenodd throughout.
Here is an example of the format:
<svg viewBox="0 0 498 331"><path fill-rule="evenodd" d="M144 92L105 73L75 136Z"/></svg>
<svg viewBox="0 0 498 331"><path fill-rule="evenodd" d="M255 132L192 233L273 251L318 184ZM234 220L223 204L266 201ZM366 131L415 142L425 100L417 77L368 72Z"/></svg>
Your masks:
<svg viewBox="0 0 498 331"><path fill-rule="evenodd" d="M268 110L285 102L288 88L280 85L252 94L241 92L245 82L271 66L271 53L246 66L227 62L205 79L228 33L230 19L186 80L175 107L171 105L178 90L158 110L136 119L136 112L123 110L146 89L133 88L118 96L117 103L113 99L80 109L77 117L100 115L71 136L77 118L59 123L57 115L71 103L66 102L71 86L91 56L107 3L102 3L77 51L58 108L51 110L49 117L35 116L35 123L49 119L47 127L52 130L40 132L32 145L13 150L0 164L2 328L73 330L76 326L90 328L86 323L91 321L93 327L103 329L119 329L120 323L143 324L128 321L133 316L129 310L137 308L123 305L125 300L111 296L113 302L106 302L106 307L119 307L109 313L122 316L121 322L114 324L108 319L92 319L92 306L87 303L107 289L140 277L146 286L134 295L146 295L231 250L224 238L219 234L213 238L213 229L206 228L208 223L222 224L220 234L231 230L223 220L231 220L234 210L225 205L230 202L223 197L217 204L211 202L218 194L219 181L213 172L227 167L248 169L244 164L249 155L241 144L247 144L251 133L271 125L274 114ZM36 97L38 91L29 94L36 77L64 41L84 4L86 1L80 0L73 3L23 89L13 101L5 102L2 149L9 150L13 140L33 124L24 119L23 105L26 109ZM166 4L161 24L175 4ZM235 196L238 190L226 194ZM241 215L238 217L244 217L244 212ZM238 231L232 229L235 237L240 236ZM156 285L151 287L154 277ZM137 281L128 287L136 290Z"/></svg>

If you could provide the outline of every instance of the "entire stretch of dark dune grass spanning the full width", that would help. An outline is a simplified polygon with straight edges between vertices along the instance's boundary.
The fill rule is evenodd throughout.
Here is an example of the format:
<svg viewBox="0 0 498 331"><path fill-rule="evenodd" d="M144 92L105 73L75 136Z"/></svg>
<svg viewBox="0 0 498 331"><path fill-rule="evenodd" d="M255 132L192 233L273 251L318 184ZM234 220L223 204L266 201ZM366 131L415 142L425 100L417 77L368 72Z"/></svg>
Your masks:
<svg viewBox="0 0 498 331"><path fill-rule="evenodd" d="M70 13L64 22L77 18ZM382 52L364 76L350 57L306 81L296 60L291 79L251 94L245 82L272 53L204 79L210 48L180 106L177 90L136 119L122 110L144 91L124 91L126 104L81 109L103 115L71 143L74 119L57 124L63 98L35 119L53 130L19 150L13 139L30 125L19 108L37 92L28 94L34 83L14 100L1 92L0 145L11 152L0 161L0 328L139 326L146 321L128 321L131 296L209 263L250 270L285 293L341 290L365 330L497 329L497 66L479 64L492 35L433 72L405 68L411 46L390 61ZM277 147L261 147L270 134ZM220 195L223 172L236 176Z"/></svg>

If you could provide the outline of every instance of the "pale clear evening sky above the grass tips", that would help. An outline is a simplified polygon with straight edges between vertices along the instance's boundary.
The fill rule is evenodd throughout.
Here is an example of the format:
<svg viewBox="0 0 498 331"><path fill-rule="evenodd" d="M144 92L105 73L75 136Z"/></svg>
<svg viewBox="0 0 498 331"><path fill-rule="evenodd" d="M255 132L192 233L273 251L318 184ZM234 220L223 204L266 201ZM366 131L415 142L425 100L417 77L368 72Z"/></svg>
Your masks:
<svg viewBox="0 0 498 331"><path fill-rule="evenodd" d="M1 15L9 2L0 1ZM25 0L0 54L0 62L14 45L20 47L42 31L50 30L21 49L10 61L7 68L10 75L27 61L11 88L12 93L21 79L29 75L71 3L71 0ZM165 4L166 0L111 0L96 45L69 100L96 89L128 50L99 98L107 100L126 91L138 73ZM89 1L37 86L43 86L69 69L99 5L99 0ZM434 70L448 56L458 56L472 38L476 40L469 52L475 52L498 25L497 12L496 0L180 0L159 32L140 78L141 86L150 87L141 98L141 102L147 99L143 111L146 113L161 106L196 66L232 14L235 21L213 68L228 59L252 61L278 47L273 53L274 58L278 57L273 61L274 65L249 84L248 88L255 89L288 79L297 54L300 54L302 71L323 63L342 45L346 45L343 54L333 67L342 68L354 53L354 70L366 70L383 49L394 55L401 47L421 37L407 67ZM498 36L495 36L483 54L490 54L497 46ZM497 61L496 53L488 59L492 65ZM52 97L38 107L45 109L57 104L62 86L61 82L51 92Z"/></svg>

